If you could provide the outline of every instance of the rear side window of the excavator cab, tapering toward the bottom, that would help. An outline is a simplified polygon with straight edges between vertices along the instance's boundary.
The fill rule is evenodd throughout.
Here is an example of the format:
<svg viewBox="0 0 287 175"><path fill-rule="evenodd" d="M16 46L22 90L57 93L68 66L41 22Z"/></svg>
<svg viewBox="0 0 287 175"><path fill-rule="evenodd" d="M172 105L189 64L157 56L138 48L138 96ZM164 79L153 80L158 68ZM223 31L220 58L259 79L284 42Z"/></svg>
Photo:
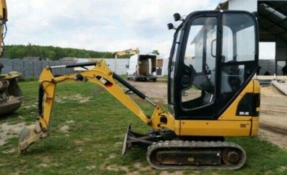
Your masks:
<svg viewBox="0 0 287 175"><path fill-rule="evenodd" d="M229 99L256 69L255 22L248 14L223 14L221 97Z"/></svg>

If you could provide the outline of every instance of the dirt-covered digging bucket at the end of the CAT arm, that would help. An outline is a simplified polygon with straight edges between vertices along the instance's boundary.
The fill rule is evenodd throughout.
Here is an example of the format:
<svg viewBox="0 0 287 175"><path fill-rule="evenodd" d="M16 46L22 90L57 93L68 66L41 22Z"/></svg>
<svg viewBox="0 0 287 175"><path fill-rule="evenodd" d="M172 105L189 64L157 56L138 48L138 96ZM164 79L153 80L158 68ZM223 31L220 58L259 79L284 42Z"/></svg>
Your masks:
<svg viewBox="0 0 287 175"><path fill-rule="evenodd" d="M18 153L23 154L26 152L27 148L39 140L40 138L47 137L47 133L43 133L39 127L39 122L32 124L28 127L25 127L21 130L19 134L19 144L18 144Z"/></svg>

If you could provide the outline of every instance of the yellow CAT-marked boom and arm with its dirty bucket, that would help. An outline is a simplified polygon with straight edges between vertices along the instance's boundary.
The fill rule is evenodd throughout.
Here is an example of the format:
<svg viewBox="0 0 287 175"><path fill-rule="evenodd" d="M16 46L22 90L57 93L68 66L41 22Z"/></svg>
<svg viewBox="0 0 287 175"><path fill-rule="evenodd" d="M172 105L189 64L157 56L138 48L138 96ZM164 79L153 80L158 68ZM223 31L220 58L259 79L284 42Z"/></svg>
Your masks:
<svg viewBox="0 0 287 175"><path fill-rule="evenodd" d="M90 81L97 83L104 87L104 89L106 89L110 94L118 99L144 123L151 125L155 129L162 129L165 127L169 127L170 129L173 128L171 126L172 122L167 123L166 120L161 122L160 119L161 117L170 118L171 116L169 114L164 113L164 111L159 106L154 104L150 99L148 99L147 96L136 90L132 85L115 74L108 66L106 66L104 60L98 62L67 65L65 67L84 67L90 65L95 65L95 67L80 73L72 73L58 77L54 77L52 69L63 66L46 67L43 69L39 77L39 116L37 117L35 124L24 128L20 133L18 146L19 153L25 152L28 146L35 141L49 136L51 114L55 102L56 86L59 82L63 81ZM126 86L130 91L139 96L141 99L147 100L149 103L155 106L153 115L151 117L147 116L141 110L141 108L139 108L137 104L134 103L134 101L121 89L116 80Z"/></svg>

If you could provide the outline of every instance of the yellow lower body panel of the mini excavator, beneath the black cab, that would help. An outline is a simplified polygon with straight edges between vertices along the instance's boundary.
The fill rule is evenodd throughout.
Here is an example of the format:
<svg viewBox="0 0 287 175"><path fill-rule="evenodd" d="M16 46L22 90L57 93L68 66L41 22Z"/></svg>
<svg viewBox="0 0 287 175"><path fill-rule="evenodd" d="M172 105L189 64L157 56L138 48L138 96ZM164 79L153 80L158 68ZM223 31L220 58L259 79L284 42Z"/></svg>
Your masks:
<svg viewBox="0 0 287 175"><path fill-rule="evenodd" d="M237 106L247 93L260 93L260 84L257 80L251 80L248 83L218 120L170 121L174 120L173 117L170 117L168 122L173 124L167 124L166 126L178 128L172 129L178 136L256 136L259 127L259 117L236 116ZM257 111L259 110L257 108Z"/></svg>

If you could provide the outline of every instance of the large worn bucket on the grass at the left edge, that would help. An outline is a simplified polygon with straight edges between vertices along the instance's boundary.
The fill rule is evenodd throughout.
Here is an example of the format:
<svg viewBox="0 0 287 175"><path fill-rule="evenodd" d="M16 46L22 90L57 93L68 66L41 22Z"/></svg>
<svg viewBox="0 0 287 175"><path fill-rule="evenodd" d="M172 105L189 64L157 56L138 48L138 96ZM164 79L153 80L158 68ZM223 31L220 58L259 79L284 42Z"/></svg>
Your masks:
<svg viewBox="0 0 287 175"><path fill-rule="evenodd" d="M0 75L0 116L15 112L22 104L23 94L16 78L19 72Z"/></svg>

